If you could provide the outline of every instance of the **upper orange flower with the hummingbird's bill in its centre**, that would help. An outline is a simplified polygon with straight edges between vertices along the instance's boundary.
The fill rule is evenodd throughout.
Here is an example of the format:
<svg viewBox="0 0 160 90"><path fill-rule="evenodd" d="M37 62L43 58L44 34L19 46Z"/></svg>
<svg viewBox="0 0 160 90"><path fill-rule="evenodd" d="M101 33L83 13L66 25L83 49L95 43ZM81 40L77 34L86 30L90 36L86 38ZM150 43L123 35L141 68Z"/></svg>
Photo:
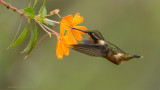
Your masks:
<svg viewBox="0 0 160 90"><path fill-rule="evenodd" d="M83 17L80 16L79 13L76 13L74 18L73 15L68 15L66 17L63 17L62 21L60 22L60 33L64 34L65 30L67 30L66 36L68 36L69 40L74 41L71 44L75 44L77 43L75 42L75 39L81 41L82 40L81 34L84 33L78 30L74 30L72 28L87 30L87 28L84 26L76 26L82 22L83 22Z"/></svg>

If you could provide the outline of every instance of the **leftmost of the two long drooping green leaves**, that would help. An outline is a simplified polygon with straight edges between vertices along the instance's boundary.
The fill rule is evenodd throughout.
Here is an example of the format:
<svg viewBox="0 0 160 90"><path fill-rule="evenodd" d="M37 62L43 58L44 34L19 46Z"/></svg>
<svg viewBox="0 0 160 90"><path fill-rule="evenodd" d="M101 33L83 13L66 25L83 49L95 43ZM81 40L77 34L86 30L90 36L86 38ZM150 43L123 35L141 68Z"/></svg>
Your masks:
<svg viewBox="0 0 160 90"><path fill-rule="evenodd" d="M10 47L17 46L25 40L25 38L28 35L28 28L29 28L29 23L26 25L25 29L23 30L21 35L18 37L18 39Z"/></svg>

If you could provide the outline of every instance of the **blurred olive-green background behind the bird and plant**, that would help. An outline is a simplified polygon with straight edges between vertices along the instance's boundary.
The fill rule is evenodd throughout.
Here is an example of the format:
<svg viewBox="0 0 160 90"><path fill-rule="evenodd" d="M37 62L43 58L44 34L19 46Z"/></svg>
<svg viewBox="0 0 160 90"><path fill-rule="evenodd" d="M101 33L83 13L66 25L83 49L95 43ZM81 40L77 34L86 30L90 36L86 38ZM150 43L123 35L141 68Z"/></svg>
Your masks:
<svg viewBox="0 0 160 90"><path fill-rule="evenodd" d="M28 0L5 1L18 9L28 6ZM42 3L39 0L37 11ZM62 17L79 12L84 17L81 25L99 30L125 52L144 58L117 66L70 50L69 56L58 60L57 39L48 37L24 60L20 52L29 37L3 52L16 34L20 15L0 4L0 90L160 90L159 0L47 0L46 6L48 11L59 8ZM26 23L23 18L21 29ZM46 33L38 30L40 39Z"/></svg>

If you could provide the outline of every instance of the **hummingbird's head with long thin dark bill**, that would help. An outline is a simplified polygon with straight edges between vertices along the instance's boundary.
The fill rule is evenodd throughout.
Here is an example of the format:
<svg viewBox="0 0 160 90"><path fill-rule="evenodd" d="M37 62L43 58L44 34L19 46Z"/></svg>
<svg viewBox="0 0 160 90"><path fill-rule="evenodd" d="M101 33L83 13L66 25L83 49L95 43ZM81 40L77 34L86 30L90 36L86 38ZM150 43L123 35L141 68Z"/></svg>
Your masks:
<svg viewBox="0 0 160 90"><path fill-rule="evenodd" d="M79 30L81 32L84 32L87 34L88 38L94 43L94 44L99 44L102 43L104 44L104 38L102 36L102 34L97 31L97 30L92 30L92 31L84 31L84 30L80 30L80 29L76 29L76 28L72 28L75 30Z"/></svg>

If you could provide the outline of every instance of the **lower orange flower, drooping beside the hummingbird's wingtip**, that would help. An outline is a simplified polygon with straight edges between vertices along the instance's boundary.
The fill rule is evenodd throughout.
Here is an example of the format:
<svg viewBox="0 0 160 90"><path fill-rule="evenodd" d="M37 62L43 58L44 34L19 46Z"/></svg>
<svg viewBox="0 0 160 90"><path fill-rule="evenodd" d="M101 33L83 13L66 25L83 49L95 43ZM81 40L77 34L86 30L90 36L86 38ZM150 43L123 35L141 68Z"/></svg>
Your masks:
<svg viewBox="0 0 160 90"><path fill-rule="evenodd" d="M63 35L57 37L56 55L58 59L62 59L63 55L69 55L68 44L66 43L67 38Z"/></svg>

